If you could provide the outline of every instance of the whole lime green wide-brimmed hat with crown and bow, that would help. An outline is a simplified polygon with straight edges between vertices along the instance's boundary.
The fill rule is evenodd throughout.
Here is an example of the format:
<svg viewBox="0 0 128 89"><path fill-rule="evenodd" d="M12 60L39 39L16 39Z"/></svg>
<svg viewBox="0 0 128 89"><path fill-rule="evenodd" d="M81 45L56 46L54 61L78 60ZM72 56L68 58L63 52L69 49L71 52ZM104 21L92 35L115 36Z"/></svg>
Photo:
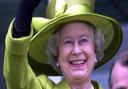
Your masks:
<svg viewBox="0 0 128 89"><path fill-rule="evenodd" d="M37 31L30 43L29 63L38 72L57 75L48 63L48 38L56 30L71 21L85 21L99 29L105 39L104 58L98 61L96 68L108 62L118 51L122 42L120 24L107 16L94 13L95 0L51 0L47 7L47 18L35 17L32 27Z"/></svg>

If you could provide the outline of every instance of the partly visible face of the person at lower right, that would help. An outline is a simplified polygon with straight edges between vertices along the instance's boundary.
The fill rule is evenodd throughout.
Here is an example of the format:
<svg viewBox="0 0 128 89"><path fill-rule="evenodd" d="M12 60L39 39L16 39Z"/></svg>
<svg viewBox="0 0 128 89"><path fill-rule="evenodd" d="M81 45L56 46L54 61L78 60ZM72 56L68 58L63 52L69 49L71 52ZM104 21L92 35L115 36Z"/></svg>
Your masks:
<svg viewBox="0 0 128 89"><path fill-rule="evenodd" d="M112 89L128 89L128 68L117 63L112 71Z"/></svg>

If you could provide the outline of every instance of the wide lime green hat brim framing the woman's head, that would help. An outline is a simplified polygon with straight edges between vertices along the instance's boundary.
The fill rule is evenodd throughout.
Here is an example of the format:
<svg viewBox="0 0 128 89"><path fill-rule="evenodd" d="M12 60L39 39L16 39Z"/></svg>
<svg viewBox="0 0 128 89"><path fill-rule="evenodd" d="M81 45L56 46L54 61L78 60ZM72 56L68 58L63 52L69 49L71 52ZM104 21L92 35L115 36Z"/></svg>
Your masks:
<svg viewBox="0 0 128 89"><path fill-rule="evenodd" d="M47 75L58 74L48 63L48 38L53 35L59 27L72 21L89 22L93 24L98 30L100 30L104 35L104 58L97 62L95 68L107 63L120 48L122 42L122 30L120 24L116 20L94 13L79 15L63 14L50 20L50 22L42 27L42 29L31 40L28 57L30 59L30 65L36 72L43 72Z"/></svg>

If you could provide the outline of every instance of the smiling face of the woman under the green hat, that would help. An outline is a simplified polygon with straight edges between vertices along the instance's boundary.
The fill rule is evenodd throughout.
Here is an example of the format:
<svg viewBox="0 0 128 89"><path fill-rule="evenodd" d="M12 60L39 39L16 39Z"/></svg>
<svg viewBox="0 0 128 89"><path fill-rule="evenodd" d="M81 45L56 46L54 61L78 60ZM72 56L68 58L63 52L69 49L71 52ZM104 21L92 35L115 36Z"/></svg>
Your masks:
<svg viewBox="0 0 128 89"><path fill-rule="evenodd" d="M68 81L90 80L95 65L92 28L83 22L65 25L59 38L58 61Z"/></svg>

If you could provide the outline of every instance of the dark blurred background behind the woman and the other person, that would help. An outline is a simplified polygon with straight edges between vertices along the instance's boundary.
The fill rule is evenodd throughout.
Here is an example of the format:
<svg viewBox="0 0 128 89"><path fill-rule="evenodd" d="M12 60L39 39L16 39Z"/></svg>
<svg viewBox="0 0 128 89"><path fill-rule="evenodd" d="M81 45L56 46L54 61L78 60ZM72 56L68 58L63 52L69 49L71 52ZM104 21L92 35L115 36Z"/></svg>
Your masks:
<svg viewBox="0 0 128 89"><path fill-rule="evenodd" d="M6 89L5 80L3 78L5 36L11 20L15 17L19 1L20 0L0 0L0 89ZM45 16L47 2L47 0L42 0L39 7L36 8L34 16ZM128 0L96 0L96 13L113 17L121 23L123 42L117 54L128 50L127 8ZM114 58L115 57L103 67L97 69L92 76L93 79L99 81L104 86L104 89L108 89L108 75ZM58 81L58 78L54 78L54 81Z"/></svg>

